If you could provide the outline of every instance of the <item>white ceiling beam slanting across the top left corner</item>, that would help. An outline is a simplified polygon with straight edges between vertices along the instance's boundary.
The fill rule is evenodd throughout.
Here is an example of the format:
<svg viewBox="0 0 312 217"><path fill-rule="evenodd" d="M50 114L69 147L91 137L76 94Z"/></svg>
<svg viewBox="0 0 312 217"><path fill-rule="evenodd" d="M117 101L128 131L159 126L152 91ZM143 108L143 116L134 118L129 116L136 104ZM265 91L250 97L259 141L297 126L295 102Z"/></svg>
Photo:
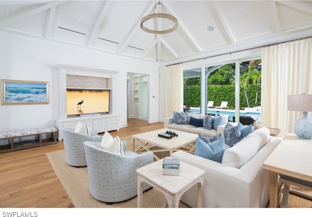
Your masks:
<svg viewBox="0 0 312 217"><path fill-rule="evenodd" d="M29 18L33 15L36 15L50 8L53 8L64 2L66 1L51 1L45 4L31 5L31 6L25 7L19 11L13 12L7 16L0 18L0 27L5 27L7 25L13 24L25 18Z"/></svg>

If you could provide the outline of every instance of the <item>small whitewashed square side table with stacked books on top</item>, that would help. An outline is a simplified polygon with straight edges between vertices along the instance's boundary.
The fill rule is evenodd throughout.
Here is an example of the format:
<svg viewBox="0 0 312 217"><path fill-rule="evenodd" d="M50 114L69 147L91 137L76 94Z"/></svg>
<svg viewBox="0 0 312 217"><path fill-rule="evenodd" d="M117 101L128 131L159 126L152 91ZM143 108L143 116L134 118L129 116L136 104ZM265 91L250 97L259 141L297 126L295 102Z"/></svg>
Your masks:
<svg viewBox="0 0 312 217"><path fill-rule="evenodd" d="M152 185L167 199L169 208L177 208L184 192L198 185L198 207L203 205L205 171L180 161L180 176L162 175L162 160L137 169L137 207L143 206L143 182Z"/></svg>

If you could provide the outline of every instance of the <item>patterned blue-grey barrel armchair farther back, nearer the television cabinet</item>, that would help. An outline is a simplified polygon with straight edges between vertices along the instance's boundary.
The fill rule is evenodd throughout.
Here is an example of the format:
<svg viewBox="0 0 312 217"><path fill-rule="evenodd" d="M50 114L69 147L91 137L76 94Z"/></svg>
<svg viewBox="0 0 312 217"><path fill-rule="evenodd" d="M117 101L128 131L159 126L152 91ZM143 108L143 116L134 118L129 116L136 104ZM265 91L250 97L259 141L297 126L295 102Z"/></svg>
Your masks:
<svg viewBox="0 0 312 217"><path fill-rule="evenodd" d="M71 128L61 128L61 130L63 134L66 163L71 166L86 166L87 161L83 142L101 142L102 137L98 136L98 130L91 130L91 136L76 133L74 132L75 129Z"/></svg>

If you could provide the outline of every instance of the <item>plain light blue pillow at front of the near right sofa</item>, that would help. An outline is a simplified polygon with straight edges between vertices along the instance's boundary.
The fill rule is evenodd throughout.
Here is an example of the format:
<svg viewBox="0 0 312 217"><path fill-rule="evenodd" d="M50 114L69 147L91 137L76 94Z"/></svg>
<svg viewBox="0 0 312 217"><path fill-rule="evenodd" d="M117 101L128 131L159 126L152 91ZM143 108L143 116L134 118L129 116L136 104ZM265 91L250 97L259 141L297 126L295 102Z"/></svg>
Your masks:
<svg viewBox="0 0 312 217"><path fill-rule="evenodd" d="M224 138L209 144L196 138L195 147L195 155L218 163L222 162L224 154Z"/></svg>

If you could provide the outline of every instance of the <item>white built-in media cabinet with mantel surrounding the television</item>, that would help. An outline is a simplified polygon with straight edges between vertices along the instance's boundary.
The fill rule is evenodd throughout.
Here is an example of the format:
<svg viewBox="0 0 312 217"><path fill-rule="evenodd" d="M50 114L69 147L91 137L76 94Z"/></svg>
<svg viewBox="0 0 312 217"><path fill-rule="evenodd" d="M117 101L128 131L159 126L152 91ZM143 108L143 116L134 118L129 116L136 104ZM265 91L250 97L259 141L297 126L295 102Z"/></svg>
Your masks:
<svg viewBox="0 0 312 217"><path fill-rule="evenodd" d="M118 72L64 65L57 65L56 68L59 72L59 117L55 122L59 133L59 141L62 141L63 139L61 128L75 128L78 121L88 125L91 129L97 129L98 132L119 130L119 118L116 114L116 96L114 92L114 90L116 90L115 75ZM80 79L84 80L84 78L96 82L79 81ZM68 79L73 79L74 82L68 82ZM95 88L93 86L102 86L102 88L106 90L112 90L110 97L110 112L108 114L95 116L68 117L66 114L66 88L69 84L76 86L75 88ZM81 87L82 85L84 87Z"/></svg>

